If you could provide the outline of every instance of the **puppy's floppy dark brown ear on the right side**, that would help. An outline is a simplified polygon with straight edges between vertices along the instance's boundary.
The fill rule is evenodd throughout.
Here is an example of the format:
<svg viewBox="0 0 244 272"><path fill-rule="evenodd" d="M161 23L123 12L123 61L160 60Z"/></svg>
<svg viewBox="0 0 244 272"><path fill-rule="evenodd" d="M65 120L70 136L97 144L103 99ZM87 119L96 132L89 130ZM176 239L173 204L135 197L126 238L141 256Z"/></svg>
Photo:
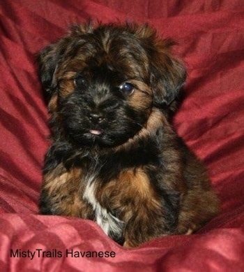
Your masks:
<svg viewBox="0 0 244 272"><path fill-rule="evenodd" d="M156 107L169 105L185 83L186 72L183 64L171 56L169 50L173 41L163 40L155 44L151 57L151 87Z"/></svg>

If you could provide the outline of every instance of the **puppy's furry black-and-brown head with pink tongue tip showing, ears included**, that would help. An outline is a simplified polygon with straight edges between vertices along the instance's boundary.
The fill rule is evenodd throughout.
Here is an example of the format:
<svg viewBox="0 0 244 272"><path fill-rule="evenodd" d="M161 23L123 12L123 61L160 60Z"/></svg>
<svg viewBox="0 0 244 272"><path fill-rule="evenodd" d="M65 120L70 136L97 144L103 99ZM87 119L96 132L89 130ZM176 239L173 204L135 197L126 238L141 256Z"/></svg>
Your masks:
<svg viewBox="0 0 244 272"><path fill-rule="evenodd" d="M73 27L38 57L54 131L78 146L114 147L135 136L185 81L170 47L145 25Z"/></svg>

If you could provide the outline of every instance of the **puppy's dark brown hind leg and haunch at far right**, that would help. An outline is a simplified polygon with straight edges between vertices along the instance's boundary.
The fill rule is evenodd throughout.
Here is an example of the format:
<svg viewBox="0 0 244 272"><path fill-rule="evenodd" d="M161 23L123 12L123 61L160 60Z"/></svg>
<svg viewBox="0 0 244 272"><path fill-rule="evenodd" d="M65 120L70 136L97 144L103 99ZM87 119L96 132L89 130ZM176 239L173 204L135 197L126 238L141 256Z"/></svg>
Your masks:
<svg viewBox="0 0 244 272"><path fill-rule="evenodd" d="M184 178L188 187L181 201L178 234L191 234L219 213L220 202L199 159L185 148Z"/></svg>

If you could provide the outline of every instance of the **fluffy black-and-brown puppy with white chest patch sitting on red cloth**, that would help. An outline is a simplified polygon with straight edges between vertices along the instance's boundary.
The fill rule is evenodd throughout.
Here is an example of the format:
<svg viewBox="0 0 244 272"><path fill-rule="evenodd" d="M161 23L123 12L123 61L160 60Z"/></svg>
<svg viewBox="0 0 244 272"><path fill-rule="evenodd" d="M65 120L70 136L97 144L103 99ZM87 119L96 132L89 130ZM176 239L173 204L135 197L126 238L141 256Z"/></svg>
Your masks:
<svg viewBox="0 0 244 272"><path fill-rule="evenodd" d="M40 213L94 220L135 247L190 234L219 210L206 171L169 124L185 69L137 24L82 24L38 57L52 145Z"/></svg>

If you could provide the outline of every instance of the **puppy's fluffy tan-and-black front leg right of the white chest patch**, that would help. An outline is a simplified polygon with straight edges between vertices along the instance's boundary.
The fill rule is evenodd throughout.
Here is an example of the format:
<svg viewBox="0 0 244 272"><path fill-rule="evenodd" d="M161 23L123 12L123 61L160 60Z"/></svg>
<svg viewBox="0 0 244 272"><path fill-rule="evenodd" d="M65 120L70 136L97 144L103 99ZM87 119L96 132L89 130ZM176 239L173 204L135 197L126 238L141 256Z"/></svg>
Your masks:
<svg viewBox="0 0 244 272"><path fill-rule="evenodd" d="M124 222L123 245L127 247L170 234L177 226L177 211L167 207L143 169L123 171L100 188L97 197L102 206L109 205L107 208Z"/></svg>

